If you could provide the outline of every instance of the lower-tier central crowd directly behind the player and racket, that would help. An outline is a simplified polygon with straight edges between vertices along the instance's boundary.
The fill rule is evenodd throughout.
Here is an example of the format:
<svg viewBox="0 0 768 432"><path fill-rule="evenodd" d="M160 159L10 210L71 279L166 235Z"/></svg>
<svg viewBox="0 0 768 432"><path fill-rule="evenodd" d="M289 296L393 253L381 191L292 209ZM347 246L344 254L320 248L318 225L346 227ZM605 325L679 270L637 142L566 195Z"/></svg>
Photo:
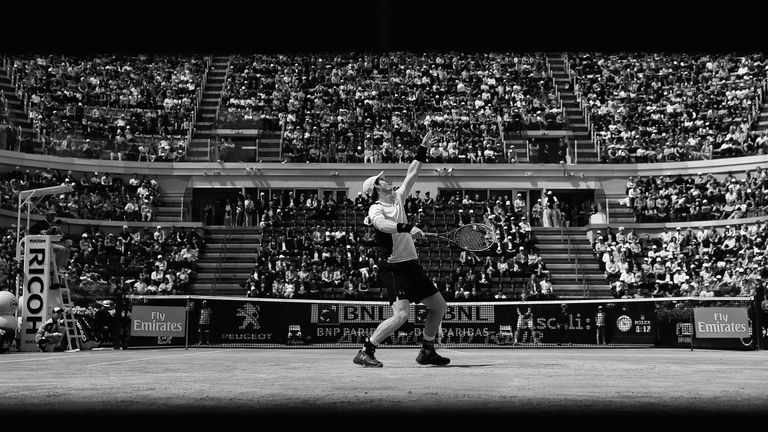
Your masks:
<svg viewBox="0 0 768 432"><path fill-rule="evenodd" d="M550 271L536 248L524 207L486 202L469 196L437 202L425 193L412 193L405 202L409 220L426 230L453 229L471 222L493 226L499 241L482 253L452 250L447 243L419 241L422 264L449 300L554 298ZM260 193L260 196L261 193ZM242 282L248 297L379 299L379 251L374 229L366 220L370 206L362 194L341 204L333 197L318 199L287 194L284 199L263 195L262 215L251 226L262 229L256 264ZM227 199L226 208L245 209L242 195ZM232 202L236 204L232 204ZM230 217L226 216L225 218ZM231 221L244 224L244 210ZM433 265L434 264L434 265ZM527 280L526 280L527 279ZM515 287L514 284L519 285Z"/></svg>

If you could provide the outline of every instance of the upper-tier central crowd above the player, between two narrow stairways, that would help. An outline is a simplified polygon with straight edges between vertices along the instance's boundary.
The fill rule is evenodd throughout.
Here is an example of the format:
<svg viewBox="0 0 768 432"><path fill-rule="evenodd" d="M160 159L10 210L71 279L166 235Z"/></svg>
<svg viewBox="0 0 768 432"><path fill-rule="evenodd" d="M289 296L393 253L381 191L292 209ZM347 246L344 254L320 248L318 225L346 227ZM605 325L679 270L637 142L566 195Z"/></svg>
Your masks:
<svg viewBox="0 0 768 432"><path fill-rule="evenodd" d="M438 162L507 162L501 131L560 129L542 54L234 56L220 116L278 119L288 162L404 162L432 126Z"/></svg>

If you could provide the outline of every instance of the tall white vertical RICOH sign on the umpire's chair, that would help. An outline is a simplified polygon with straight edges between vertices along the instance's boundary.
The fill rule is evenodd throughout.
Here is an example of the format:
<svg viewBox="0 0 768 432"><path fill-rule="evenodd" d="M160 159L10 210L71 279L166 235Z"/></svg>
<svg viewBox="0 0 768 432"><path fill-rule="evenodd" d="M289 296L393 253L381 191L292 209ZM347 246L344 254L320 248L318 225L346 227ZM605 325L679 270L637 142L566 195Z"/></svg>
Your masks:
<svg viewBox="0 0 768 432"><path fill-rule="evenodd" d="M35 335L49 318L51 285L51 238L24 237L24 299L21 316L21 350L37 351Z"/></svg>

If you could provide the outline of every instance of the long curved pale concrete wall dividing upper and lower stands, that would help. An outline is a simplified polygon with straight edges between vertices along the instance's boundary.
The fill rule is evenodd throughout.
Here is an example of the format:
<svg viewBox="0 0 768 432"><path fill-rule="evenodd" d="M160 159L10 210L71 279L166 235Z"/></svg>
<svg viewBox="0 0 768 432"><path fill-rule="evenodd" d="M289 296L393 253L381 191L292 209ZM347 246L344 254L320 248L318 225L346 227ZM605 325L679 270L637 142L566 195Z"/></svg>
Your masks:
<svg viewBox="0 0 768 432"><path fill-rule="evenodd" d="M598 189L607 196L624 193L630 176L713 174L718 179L732 172L736 178L758 166L768 168L768 155L660 164L425 164L417 186L436 196L438 188L467 189ZM243 162L147 163L95 159L61 158L0 150L0 171L50 167L63 172L104 172L124 179L134 173L158 176L166 194L184 193L189 187L259 187L347 189L357 195L366 177L384 170L395 185L402 181L408 164L301 164ZM440 176L438 168L453 168L452 175ZM335 173L335 174L334 174Z"/></svg>

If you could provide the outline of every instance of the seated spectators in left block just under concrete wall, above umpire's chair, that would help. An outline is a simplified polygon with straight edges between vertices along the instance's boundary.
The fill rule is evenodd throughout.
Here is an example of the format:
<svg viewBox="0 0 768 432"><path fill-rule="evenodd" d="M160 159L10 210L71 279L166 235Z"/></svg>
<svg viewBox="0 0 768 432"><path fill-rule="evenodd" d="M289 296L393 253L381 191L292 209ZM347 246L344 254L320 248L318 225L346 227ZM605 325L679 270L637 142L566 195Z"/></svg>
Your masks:
<svg viewBox="0 0 768 432"><path fill-rule="evenodd" d="M19 192L67 185L73 192L33 200L32 214L53 212L75 219L152 222L162 203L157 176L134 174L124 181L120 174L62 174L52 168L30 171L15 169L0 173L0 208L17 210Z"/></svg>

